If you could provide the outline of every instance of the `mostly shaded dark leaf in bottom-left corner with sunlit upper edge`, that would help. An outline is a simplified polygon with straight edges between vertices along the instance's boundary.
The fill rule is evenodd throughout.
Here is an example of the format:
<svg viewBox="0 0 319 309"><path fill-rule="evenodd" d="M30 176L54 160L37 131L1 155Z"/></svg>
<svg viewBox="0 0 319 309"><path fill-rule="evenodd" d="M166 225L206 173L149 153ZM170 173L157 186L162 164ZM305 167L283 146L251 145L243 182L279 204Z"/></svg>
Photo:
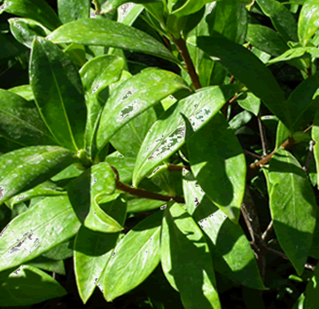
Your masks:
<svg viewBox="0 0 319 309"><path fill-rule="evenodd" d="M67 294L51 275L28 265L22 265L0 283L3 306L33 305Z"/></svg>

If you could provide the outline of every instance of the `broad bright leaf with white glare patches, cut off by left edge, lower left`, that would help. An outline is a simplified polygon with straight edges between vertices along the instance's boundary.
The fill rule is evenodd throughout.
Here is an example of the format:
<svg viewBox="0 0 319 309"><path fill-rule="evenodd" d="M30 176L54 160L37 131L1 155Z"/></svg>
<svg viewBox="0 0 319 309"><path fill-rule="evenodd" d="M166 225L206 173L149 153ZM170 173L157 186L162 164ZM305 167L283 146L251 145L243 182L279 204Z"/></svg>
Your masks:
<svg viewBox="0 0 319 309"><path fill-rule="evenodd" d="M1 232L0 271L19 267L66 242L80 226L66 196L44 198L14 218Z"/></svg>

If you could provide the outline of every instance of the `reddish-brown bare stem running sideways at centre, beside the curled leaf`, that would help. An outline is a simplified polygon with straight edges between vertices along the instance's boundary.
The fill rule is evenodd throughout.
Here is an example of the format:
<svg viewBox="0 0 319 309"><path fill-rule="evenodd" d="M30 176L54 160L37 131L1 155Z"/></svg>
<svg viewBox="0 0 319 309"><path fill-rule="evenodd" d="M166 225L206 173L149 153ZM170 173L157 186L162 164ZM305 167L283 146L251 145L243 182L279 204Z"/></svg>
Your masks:
<svg viewBox="0 0 319 309"><path fill-rule="evenodd" d="M176 203L181 203L181 204L185 203L185 199L183 197L165 196L163 194L153 193L150 191L146 191L144 189L135 189L135 188L129 187L128 185L120 182L119 173L117 169L114 166L111 166L111 167L116 175L115 176L116 189L119 189L123 192L127 192L131 194L132 196L136 196L136 197L156 199L156 200L165 201L165 202L169 202L171 199L173 199Z"/></svg>

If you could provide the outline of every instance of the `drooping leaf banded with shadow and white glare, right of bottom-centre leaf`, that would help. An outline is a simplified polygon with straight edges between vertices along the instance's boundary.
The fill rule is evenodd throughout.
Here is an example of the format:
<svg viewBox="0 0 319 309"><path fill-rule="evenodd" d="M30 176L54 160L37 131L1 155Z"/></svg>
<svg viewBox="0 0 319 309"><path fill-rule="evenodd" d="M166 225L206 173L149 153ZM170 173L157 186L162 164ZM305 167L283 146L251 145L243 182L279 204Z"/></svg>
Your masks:
<svg viewBox="0 0 319 309"><path fill-rule="evenodd" d="M208 246L214 257L215 271L246 287L263 290L253 250L242 228L232 223L206 197L191 172L183 175L183 191L187 211L214 243L213 246L208 243Z"/></svg>

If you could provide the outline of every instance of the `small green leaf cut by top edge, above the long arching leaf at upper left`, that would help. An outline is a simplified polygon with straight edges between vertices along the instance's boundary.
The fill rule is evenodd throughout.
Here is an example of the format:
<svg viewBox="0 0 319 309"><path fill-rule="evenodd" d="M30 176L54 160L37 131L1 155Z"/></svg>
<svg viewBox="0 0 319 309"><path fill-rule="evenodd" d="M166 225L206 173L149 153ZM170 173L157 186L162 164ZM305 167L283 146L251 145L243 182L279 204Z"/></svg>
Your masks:
<svg viewBox="0 0 319 309"><path fill-rule="evenodd" d="M64 23L88 19L90 0L58 0L58 17Z"/></svg>

